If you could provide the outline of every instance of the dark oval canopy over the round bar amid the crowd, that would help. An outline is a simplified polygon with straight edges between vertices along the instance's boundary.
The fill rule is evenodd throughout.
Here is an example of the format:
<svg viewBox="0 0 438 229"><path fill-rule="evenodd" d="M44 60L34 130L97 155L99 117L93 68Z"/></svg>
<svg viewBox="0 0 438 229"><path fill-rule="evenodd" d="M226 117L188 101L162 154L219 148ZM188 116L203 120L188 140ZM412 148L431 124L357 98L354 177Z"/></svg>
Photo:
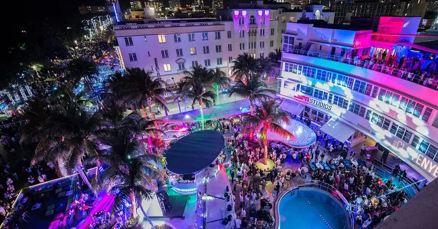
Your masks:
<svg viewBox="0 0 438 229"><path fill-rule="evenodd" d="M218 157L225 143L222 134L201 130L176 141L167 151L167 169L176 174L198 172Z"/></svg>

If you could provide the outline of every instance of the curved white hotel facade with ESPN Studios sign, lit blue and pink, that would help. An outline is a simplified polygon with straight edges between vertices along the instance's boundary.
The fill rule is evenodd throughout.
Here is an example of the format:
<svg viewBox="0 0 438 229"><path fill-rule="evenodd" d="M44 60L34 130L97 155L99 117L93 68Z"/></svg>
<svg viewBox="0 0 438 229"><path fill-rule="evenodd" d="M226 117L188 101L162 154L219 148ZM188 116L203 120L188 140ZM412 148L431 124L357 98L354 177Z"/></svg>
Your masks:
<svg viewBox="0 0 438 229"><path fill-rule="evenodd" d="M399 58L415 54L418 51L409 51L414 37L401 35L415 35L417 20L382 17L376 33L288 23L282 39L280 108L310 118L340 141L353 136L353 142L361 142L369 136L428 180L437 178L436 86L428 88L402 79L397 70L383 73L347 59L351 53L364 58L384 51Z"/></svg>

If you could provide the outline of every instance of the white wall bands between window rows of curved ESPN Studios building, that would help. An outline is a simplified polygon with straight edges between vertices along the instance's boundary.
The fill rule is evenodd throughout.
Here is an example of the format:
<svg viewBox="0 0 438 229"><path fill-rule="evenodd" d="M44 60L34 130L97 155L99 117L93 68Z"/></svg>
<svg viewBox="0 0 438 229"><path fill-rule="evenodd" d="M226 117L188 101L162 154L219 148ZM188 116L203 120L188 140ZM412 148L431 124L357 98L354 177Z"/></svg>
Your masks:
<svg viewBox="0 0 438 229"><path fill-rule="evenodd" d="M404 113L400 109L397 109L393 106L389 106L378 99L371 98L369 96L350 90L348 88L333 85L332 83L323 82L320 80L305 77L304 75L300 75L292 72L285 72L284 70L281 72L281 75L284 79L282 80L282 84L280 88L280 96L295 100L299 103L303 103L303 101L301 100L296 100L294 96L305 95L305 94L302 94L301 92L292 90L290 88L283 87L284 82L288 80L290 80L291 82L302 83L312 88L318 88L328 93L340 95L350 101L353 101L361 106L364 106L367 109L372 110L373 112L383 115L385 118L391 120L391 122L397 123L403 127L408 127L407 129L409 129L409 131L413 132L415 135L428 140L434 145L437 145L436 143L438 140L437 128L431 126L431 124L429 123L425 123L421 121L420 119L410 114ZM305 95L305 96L311 97L309 95ZM323 102L327 103L327 101L323 101ZM373 139L383 144L383 146L387 147L389 150L394 152L406 163L410 164L414 169L419 171L424 177L428 178L429 180L434 179L438 176L438 172L436 170L438 168L437 167L438 163L426 157L424 154L421 154L417 149L411 147L408 143L394 136L388 130L384 130L382 127L369 122L365 118L362 118L348 111L347 109L343 109L333 104L331 105L332 105L332 109L331 111L329 111L319 106L314 106L309 103L306 104L306 106L311 106L312 108L321 110L322 112L328 113L334 117L338 117L343 122L360 130L361 132L367 134L368 136L371 136ZM432 122L432 120L434 120L436 113L437 112L435 110L429 122ZM412 138L413 137L411 137L411 139Z"/></svg>

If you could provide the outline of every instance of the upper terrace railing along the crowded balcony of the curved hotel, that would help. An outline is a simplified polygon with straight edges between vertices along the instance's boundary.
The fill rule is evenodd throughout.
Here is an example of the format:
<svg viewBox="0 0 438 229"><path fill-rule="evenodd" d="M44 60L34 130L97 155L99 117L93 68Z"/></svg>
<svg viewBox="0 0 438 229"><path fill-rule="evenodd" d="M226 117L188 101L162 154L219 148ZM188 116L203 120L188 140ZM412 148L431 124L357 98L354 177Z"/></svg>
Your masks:
<svg viewBox="0 0 438 229"><path fill-rule="evenodd" d="M356 58L347 58L337 55L330 55L326 53L317 53L317 52L311 52L311 51L305 51L305 50L298 50L298 49L283 49L283 52L285 53L292 53L292 54L298 54L298 55L307 55L311 57L317 57L321 59L328 59L332 61L337 61L345 64L355 65L359 66L361 68L366 68L369 70L374 70L378 72L382 72L387 75L391 75L397 78L402 78L404 80L411 81L413 83L422 85L424 87L433 88L435 90L438 90L438 82L435 80L434 72L432 72L432 75L428 75L429 77L425 77L424 75L417 75L413 72L409 72L407 70L401 70L396 68L391 68L386 66L385 64L378 64L373 63L370 60L360 60Z"/></svg>

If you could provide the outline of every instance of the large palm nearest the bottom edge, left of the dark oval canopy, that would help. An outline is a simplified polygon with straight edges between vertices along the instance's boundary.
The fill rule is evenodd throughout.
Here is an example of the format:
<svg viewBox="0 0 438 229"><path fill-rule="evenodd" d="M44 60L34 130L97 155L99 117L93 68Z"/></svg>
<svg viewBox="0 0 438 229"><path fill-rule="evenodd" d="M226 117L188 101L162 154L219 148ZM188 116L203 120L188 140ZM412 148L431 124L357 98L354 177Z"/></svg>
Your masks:
<svg viewBox="0 0 438 229"><path fill-rule="evenodd" d="M109 147L85 161L86 164L100 164L106 167L93 180L95 192L105 191L110 195L116 195L112 209L114 213L122 211L125 203L128 203L133 217L136 218L136 208L140 207L146 220L154 228L141 202L153 197L154 191L157 190L155 180L163 178L159 172L161 157L146 154L139 144L139 139L134 138L132 132L126 129L112 129L110 135L101 138L101 142Z"/></svg>

